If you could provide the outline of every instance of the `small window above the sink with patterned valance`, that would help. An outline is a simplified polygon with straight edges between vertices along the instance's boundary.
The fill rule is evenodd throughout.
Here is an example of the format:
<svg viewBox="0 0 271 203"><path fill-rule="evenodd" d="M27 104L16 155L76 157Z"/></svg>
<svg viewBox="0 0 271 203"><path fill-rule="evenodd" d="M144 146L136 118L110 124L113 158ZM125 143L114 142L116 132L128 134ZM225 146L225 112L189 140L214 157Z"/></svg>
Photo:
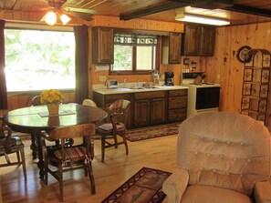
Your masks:
<svg viewBox="0 0 271 203"><path fill-rule="evenodd" d="M150 74L157 69L157 37L114 36L114 64L110 74Z"/></svg>

